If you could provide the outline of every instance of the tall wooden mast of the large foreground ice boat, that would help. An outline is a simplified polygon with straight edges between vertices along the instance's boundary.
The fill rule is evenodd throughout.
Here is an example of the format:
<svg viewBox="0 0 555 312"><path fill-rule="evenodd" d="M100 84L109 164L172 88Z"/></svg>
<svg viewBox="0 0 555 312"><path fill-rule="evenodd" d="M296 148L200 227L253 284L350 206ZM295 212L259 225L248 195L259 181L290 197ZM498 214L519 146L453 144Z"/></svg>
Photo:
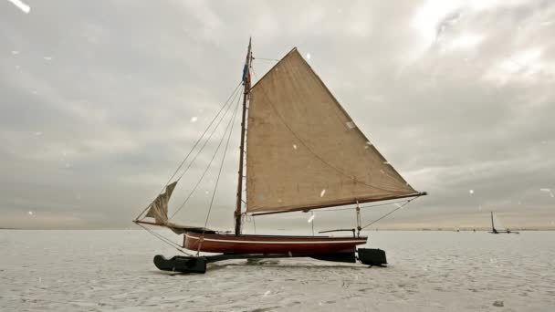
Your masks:
<svg viewBox="0 0 555 312"><path fill-rule="evenodd" d="M246 101L248 99L248 91L250 90L250 62L252 60L251 38L248 39L248 50L246 52L245 68L243 68L243 114L241 118L241 145L239 149L239 177L237 179L237 203L236 212L236 235L241 234L241 206L243 203L243 161L245 159L245 118L246 118Z"/></svg>

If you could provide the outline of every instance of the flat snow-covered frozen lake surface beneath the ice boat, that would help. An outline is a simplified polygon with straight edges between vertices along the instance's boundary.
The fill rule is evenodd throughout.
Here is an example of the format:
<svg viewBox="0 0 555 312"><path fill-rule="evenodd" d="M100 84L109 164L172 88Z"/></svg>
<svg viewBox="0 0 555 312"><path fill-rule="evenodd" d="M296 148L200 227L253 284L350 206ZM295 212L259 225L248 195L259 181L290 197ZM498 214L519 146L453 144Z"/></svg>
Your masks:
<svg viewBox="0 0 555 312"><path fill-rule="evenodd" d="M1 230L0 310L555 311L555 232L366 234L388 267L226 261L171 275L152 257L177 251L144 231Z"/></svg>

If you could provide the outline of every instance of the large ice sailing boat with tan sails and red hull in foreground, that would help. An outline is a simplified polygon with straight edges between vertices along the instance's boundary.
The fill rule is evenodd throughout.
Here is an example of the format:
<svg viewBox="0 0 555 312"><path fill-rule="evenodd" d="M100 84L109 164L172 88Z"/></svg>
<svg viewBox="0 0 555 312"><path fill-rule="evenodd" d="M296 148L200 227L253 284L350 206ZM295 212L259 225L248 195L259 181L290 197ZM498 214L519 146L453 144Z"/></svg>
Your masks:
<svg viewBox="0 0 555 312"><path fill-rule="evenodd" d="M232 258L309 256L354 263L356 246L367 242L360 234L360 203L408 202L425 194L415 191L382 157L297 48L251 87L253 59L249 41L242 78L235 233L171 222L168 202L177 181L169 181L134 222L183 234L181 247L197 254L171 259L157 255L154 263L162 270L204 272L206 263ZM309 212L340 205L356 205L357 234L354 228L348 229L351 236L340 237L242 234L241 217L246 213ZM334 231L345 230L326 232ZM358 255L366 264L385 263L381 250L359 248Z"/></svg>

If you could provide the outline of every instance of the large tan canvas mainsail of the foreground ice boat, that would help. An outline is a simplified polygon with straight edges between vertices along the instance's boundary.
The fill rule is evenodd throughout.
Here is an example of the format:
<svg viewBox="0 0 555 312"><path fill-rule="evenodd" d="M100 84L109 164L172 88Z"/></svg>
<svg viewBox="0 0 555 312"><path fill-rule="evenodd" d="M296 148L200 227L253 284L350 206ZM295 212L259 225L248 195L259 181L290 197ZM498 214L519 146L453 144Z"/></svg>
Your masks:
<svg viewBox="0 0 555 312"><path fill-rule="evenodd" d="M250 90L246 211L288 212L418 194L294 48Z"/></svg>

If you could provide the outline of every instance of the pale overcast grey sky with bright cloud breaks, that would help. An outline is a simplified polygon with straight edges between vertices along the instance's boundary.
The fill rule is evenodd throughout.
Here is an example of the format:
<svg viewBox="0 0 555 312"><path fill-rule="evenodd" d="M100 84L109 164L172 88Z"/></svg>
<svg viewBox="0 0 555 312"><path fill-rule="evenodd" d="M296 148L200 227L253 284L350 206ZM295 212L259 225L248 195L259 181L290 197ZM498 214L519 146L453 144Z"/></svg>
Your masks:
<svg viewBox="0 0 555 312"><path fill-rule="evenodd" d="M252 36L255 57L298 47L429 192L376 226L487 227L494 211L508 227L555 228L553 1L25 0L28 13L14 3L0 0L0 227L134 227L236 88ZM274 64L255 60L253 78ZM233 227L238 137L213 228ZM218 159L177 221L204 224ZM364 210L363 223L393 208ZM316 215L318 229L355 220ZM261 216L257 228L308 229L308 217Z"/></svg>

